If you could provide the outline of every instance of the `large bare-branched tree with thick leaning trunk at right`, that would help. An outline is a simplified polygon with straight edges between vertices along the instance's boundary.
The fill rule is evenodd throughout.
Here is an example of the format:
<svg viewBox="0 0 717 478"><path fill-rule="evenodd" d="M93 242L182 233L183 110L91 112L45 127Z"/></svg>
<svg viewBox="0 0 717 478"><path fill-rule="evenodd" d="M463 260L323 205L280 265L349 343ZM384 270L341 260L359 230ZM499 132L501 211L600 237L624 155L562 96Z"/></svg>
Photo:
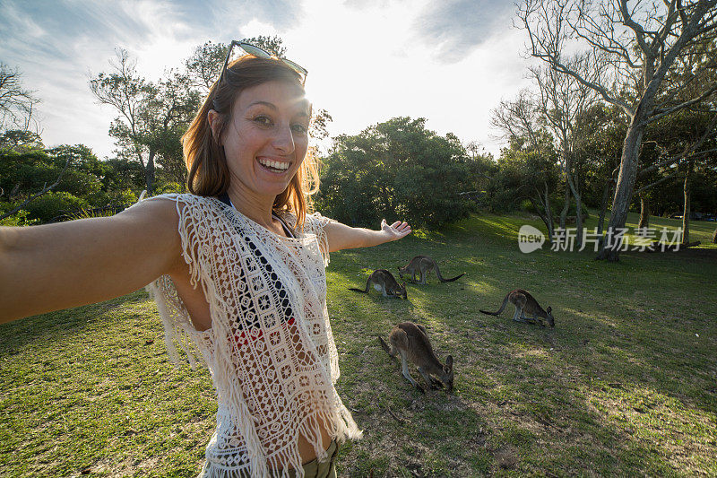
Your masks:
<svg viewBox="0 0 717 478"><path fill-rule="evenodd" d="M702 85L689 100L675 100L686 83L665 82L678 59L713 35L717 27L717 0L640 2L629 8L626 0L524 0L518 19L530 38L530 54L561 74L574 77L618 106L629 118L613 197L609 231L625 226L632 202L638 157L645 127L652 121L710 98L717 85L703 83L707 71L692 72L687 86ZM567 47L586 48L599 78L590 80L563 61ZM714 59L708 63L713 65ZM614 91L629 85L630 92ZM618 260L618 250L603 248L598 258Z"/></svg>

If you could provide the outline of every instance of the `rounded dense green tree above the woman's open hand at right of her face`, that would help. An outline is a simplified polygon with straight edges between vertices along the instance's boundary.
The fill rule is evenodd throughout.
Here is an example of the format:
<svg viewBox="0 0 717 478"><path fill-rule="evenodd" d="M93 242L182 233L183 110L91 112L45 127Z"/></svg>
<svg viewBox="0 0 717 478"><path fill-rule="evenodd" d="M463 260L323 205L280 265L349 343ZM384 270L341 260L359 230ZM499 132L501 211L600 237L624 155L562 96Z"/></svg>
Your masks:
<svg viewBox="0 0 717 478"><path fill-rule="evenodd" d="M363 226L410 217L415 227L437 228L467 216L471 201L459 193L471 187L472 161L455 135L425 125L424 118L395 117L334 138L317 205Z"/></svg>

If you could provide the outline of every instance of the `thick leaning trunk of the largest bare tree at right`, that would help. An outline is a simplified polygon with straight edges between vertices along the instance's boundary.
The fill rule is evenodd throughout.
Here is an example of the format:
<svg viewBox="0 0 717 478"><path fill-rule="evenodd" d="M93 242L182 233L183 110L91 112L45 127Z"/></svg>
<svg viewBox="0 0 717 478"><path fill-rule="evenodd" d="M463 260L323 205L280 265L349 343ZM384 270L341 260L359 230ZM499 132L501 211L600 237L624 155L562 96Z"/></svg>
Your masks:
<svg viewBox="0 0 717 478"><path fill-rule="evenodd" d="M641 114L641 109L643 109L643 105L637 108L638 112L627 128L625 143L623 143L618 184L615 187L615 196L612 199L608 236L625 227L627 212L630 209L630 203L632 203L635 177L637 175L637 160L644 134L644 117ZM608 248L609 244L609 241L603 244L603 248L596 258L607 259L609 262L618 262L618 249Z"/></svg>

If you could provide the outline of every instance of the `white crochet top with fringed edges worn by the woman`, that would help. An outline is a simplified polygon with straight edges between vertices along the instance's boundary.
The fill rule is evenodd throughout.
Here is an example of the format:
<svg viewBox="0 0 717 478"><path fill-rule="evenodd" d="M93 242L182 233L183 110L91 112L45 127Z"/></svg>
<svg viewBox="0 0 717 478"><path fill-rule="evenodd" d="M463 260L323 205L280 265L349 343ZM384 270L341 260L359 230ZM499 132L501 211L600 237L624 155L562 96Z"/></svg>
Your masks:
<svg viewBox="0 0 717 478"><path fill-rule="evenodd" d="M195 351L212 372L217 430L200 476L303 476L299 434L324 459L322 422L333 439L361 435L333 384L338 354L326 310L328 243L319 213L307 215L297 238L266 230L212 197L155 196L174 201L191 282L209 301L212 328L194 329L174 283L147 286L175 344L194 367ZM296 222L285 215L289 224ZM194 350L191 347L194 344Z"/></svg>

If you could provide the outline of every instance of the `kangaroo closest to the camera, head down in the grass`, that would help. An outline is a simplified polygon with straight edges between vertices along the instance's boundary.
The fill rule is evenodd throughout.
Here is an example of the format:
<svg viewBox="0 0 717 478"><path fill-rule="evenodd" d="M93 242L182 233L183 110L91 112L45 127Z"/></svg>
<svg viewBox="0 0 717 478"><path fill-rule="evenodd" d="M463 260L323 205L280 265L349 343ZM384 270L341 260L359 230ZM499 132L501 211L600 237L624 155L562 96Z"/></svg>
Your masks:
<svg viewBox="0 0 717 478"><path fill-rule="evenodd" d="M390 348L380 336L378 340L381 342L381 346L384 347L384 351L392 357L398 354L401 355L403 377L410 382L410 385L418 388L421 393L425 394L426 390L410 377L408 361L416 364L428 387L438 388L445 386L449 392L454 389L454 358L452 355L448 355L445 358L445 365L441 365L436 353L433 352L433 347L431 347L431 342L428 340L428 334L424 326L413 322L402 322L398 326L394 326L388 339L391 343Z"/></svg>

